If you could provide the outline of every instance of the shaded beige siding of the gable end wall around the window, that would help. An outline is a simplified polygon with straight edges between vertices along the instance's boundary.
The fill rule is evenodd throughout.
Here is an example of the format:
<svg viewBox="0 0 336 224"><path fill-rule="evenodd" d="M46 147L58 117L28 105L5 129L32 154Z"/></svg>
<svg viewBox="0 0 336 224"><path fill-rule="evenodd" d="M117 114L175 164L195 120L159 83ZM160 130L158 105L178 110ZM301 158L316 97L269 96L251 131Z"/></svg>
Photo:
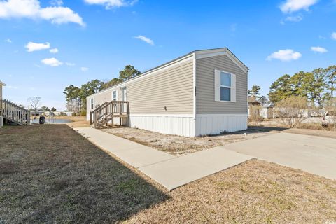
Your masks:
<svg viewBox="0 0 336 224"><path fill-rule="evenodd" d="M236 75L236 102L215 102L215 69ZM196 86L197 114L247 113L247 73L244 73L228 56L197 59Z"/></svg>

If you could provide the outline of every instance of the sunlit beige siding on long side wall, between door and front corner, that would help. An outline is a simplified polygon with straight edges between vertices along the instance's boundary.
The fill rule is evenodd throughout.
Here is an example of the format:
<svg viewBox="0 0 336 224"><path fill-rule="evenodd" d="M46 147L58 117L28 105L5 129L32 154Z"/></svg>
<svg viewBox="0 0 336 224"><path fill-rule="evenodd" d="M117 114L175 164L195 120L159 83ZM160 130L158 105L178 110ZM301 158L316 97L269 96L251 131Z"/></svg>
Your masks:
<svg viewBox="0 0 336 224"><path fill-rule="evenodd" d="M128 83L127 101L131 114L192 114L193 59Z"/></svg>

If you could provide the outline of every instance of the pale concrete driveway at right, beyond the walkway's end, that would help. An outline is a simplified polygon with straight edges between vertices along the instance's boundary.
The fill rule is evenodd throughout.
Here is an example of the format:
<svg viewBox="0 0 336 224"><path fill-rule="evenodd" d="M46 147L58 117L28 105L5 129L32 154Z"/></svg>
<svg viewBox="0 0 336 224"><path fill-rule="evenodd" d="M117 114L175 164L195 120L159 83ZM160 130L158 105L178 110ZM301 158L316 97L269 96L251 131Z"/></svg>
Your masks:
<svg viewBox="0 0 336 224"><path fill-rule="evenodd" d="M281 132L221 147L336 179L336 139L333 138Z"/></svg>

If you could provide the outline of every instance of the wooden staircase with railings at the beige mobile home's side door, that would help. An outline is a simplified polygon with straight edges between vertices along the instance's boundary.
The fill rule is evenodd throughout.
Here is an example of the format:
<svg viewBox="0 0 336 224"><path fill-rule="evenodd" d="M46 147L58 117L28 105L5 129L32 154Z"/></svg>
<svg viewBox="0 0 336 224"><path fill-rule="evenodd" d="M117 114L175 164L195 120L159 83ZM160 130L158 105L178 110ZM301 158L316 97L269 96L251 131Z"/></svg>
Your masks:
<svg viewBox="0 0 336 224"><path fill-rule="evenodd" d="M114 118L119 118L119 125L128 125L130 104L127 101L105 102L90 112L90 125L95 128L114 126Z"/></svg>

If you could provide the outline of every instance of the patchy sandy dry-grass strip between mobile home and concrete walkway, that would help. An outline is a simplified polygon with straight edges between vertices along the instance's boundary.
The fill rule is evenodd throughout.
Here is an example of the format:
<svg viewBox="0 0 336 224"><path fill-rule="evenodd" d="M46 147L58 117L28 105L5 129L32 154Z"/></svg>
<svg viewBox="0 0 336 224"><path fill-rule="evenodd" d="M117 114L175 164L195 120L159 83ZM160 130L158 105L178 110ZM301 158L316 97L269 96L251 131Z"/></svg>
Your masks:
<svg viewBox="0 0 336 224"><path fill-rule="evenodd" d="M194 153L196 151L202 151L207 148L223 146L232 142L262 137L267 134L277 132L272 130L244 130L241 132L223 133L215 136L188 138L172 134L161 134L158 132L140 130L131 127L114 127L104 129L103 131L110 134L115 134L118 137L135 141L145 146L156 148L160 151L171 153L173 155Z"/></svg>

